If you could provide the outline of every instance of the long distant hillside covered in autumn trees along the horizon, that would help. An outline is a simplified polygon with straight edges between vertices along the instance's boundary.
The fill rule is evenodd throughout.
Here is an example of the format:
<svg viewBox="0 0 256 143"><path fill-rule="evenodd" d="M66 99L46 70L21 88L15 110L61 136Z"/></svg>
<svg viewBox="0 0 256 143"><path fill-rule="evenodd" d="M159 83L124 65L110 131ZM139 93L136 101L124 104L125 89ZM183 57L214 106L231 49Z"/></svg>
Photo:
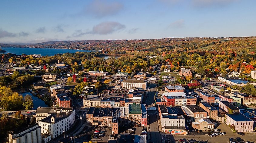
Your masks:
<svg viewBox="0 0 256 143"><path fill-rule="evenodd" d="M0 44L1 47L18 48L68 48L84 50L101 50L110 54L125 54L126 51L165 51L175 49L177 52L191 50L208 50L214 45L223 45L231 48L248 48L254 46L256 37L219 37L219 38L163 38L163 39L135 39L135 40L75 40L49 41L38 44L16 45ZM221 44L218 44L221 43ZM244 44L246 43L246 44ZM256 45L256 44L255 44ZM207 48L205 48L207 47Z"/></svg>

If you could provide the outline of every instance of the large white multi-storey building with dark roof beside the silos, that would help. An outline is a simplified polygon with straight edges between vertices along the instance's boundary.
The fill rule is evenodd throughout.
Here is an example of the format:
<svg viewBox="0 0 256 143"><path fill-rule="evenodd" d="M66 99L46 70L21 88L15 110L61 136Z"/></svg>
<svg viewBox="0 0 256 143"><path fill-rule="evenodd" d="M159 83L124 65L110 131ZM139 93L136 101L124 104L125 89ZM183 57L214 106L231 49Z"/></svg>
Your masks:
<svg viewBox="0 0 256 143"><path fill-rule="evenodd" d="M70 129L75 122L75 110L73 108L57 108L55 113L38 121L41 133L56 138L58 135Z"/></svg>

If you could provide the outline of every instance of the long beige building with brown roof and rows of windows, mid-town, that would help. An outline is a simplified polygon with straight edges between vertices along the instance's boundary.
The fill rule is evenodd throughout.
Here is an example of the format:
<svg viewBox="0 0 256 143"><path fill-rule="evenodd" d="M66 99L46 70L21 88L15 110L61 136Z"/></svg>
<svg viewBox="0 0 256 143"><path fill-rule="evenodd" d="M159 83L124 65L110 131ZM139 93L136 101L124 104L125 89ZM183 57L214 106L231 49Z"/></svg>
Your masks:
<svg viewBox="0 0 256 143"><path fill-rule="evenodd" d="M141 88L147 89L147 83L144 80L123 80L121 82L122 88L125 89L133 89L133 88Z"/></svg>

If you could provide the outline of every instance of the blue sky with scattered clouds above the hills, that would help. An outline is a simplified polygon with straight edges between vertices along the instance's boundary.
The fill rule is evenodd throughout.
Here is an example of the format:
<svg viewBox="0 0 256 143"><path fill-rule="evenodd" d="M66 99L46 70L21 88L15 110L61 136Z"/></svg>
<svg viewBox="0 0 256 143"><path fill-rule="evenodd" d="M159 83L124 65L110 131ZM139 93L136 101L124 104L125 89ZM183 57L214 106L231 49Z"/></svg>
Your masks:
<svg viewBox="0 0 256 143"><path fill-rule="evenodd" d="M0 1L0 43L256 36L255 0Z"/></svg>

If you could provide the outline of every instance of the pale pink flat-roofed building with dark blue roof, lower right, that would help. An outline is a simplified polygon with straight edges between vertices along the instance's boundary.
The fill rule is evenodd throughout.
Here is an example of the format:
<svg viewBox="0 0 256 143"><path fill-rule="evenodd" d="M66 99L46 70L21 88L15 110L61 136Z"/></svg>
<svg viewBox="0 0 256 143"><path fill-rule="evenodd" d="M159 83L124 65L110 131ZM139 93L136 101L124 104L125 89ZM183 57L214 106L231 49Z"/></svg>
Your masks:
<svg viewBox="0 0 256 143"><path fill-rule="evenodd" d="M244 116L241 113L225 114L226 124L230 127L234 126L237 132L252 132L253 120Z"/></svg>

